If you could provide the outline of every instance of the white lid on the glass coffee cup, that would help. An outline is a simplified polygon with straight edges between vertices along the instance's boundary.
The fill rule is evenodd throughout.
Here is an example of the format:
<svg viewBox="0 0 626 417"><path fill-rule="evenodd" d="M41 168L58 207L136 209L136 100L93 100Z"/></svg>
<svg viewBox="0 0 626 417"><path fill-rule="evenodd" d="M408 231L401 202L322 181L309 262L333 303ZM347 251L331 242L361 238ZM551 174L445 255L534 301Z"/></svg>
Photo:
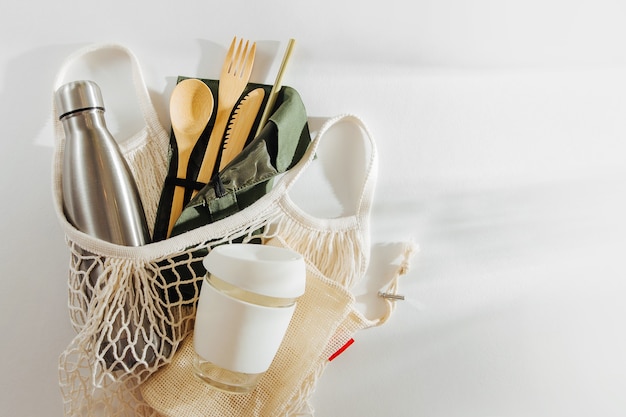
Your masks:
<svg viewBox="0 0 626 417"><path fill-rule="evenodd" d="M299 253L276 246L233 243L213 248L203 261L215 277L269 297L304 294L306 266Z"/></svg>

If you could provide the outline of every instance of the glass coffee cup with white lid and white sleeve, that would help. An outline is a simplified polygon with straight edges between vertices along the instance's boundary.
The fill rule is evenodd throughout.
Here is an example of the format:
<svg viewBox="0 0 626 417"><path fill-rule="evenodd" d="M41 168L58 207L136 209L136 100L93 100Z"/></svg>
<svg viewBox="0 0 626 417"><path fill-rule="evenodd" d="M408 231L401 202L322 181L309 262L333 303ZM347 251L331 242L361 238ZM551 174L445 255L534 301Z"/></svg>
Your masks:
<svg viewBox="0 0 626 417"><path fill-rule="evenodd" d="M250 392L272 363L304 294L304 259L280 247L229 244L211 250L203 264L195 375L225 392Z"/></svg>

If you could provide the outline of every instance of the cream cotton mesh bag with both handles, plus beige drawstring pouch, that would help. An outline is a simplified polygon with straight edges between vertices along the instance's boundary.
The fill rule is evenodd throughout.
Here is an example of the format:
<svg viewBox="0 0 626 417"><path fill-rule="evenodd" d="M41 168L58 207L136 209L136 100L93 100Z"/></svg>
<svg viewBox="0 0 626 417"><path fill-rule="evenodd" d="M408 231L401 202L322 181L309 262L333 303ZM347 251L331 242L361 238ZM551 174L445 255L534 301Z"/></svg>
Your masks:
<svg viewBox="0 0 626 417"><path fill-rule="evenodd" d="M156 117L139 63L128 49L119 45L91 46L71 56L66 65L102 49L120 51L132 63L145 127L120 147L152 225L167 177L170 135ZM94 239L67 222L60 188L63 133L57 123L53 193L70 249L68 304L77 332L59 358L66 415L278 416L307 410L328 357L356 331L385 322L394 307L393 301L385 299L384 316L369 320L356 310L351 292L369 263L369 211L377 166L371 139L365 141L371 151L355 214L316 219L301 211L288 195L315 159L317 144L325 132L340 122L356 123L370 139L358 118L331 119L304 155L294 156L295 165L251 205L211 224L137 248ZM194 209L199 207L202 205ZM198 268L198 254L235 241L290 247L308 262L307 291L298 303L285 341L259 386L243 396L207 392L207 387L189 374L186 362L192 349L195 305L204 275ZM412 249L407 243L404 260L390 277L386 292L395 292L397 278L406 270ZM95 279L93 271L99 271ZM203 402L198 403L200 400Z"/></svg>

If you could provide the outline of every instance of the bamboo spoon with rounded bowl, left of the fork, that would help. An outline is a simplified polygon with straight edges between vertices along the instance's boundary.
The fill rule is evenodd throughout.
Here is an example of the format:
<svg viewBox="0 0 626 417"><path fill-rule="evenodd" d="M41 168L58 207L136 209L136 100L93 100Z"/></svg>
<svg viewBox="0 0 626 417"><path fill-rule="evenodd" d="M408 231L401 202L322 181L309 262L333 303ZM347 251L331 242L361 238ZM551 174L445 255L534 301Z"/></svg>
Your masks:
<svg viewBox="0 0 626 417"><path fill-rule="evenodd" d="M177 178L187 177L189 157L213 113L213 94L202 81L189 78L179 82L170 97L170 119L178 148ZM185 188L174 187L167 236L172 233L176 220L183 211Z"/></svg>

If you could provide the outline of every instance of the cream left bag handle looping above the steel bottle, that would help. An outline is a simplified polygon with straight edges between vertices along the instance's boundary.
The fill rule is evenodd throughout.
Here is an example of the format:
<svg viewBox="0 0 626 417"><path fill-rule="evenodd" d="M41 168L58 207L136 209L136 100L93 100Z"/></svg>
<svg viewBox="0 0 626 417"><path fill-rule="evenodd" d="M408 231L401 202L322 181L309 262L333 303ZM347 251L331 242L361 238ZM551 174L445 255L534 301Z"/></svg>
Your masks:
<svg viewBox="0 0 626 417"><path fill-rule="evenodd" d="M146 124L146 127L153 133L158 134L159 131L165 131L161 125L161 122L159 121L159 118L157 116L152 100L150 99L150 94L148 93L148 87L146 86L143 72L141 70L141 65L139 64L139 60L137 59L135 54L130 49L120 44L98 43L98 44L87 45L81 49L78 49L72 54L70 54L63 61L59 71L57 72L57 75L53 83L53 101L52 101L54 123L55 123L57 138L62 137L63 130L58 120L59 115L57 113L56 104L54 101L54 92L56 92L56 90L64 83L67 73L69 72L70 68L72 67L72 65L74 65L76 61L78 61L80 58L86 55L101 52L101 51L106 51L106 50L122 52L129 58L130 63L131 63L132 79L133 79L133 85L135 87L135 94L139 101L139 109L141 111L141 115L143 117L144 123Z"/></svg>

